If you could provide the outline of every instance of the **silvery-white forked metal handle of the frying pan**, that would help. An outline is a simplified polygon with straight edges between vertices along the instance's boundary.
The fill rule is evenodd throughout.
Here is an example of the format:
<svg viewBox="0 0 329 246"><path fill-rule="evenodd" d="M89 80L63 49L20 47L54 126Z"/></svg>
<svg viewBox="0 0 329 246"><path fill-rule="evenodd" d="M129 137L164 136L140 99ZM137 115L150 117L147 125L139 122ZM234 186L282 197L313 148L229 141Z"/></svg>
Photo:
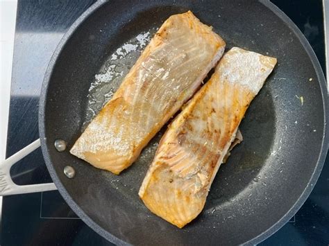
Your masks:
<svg viewBox="0 0 329 246"><path fill-rule="evenodd" d="M10 177L10 168L20 159L26 157L26 155L33 152L33 150L40 147L40 139L35 140L22 150L19 150L15 155L12 155L8 159L1 161L0 163L0 195L15 195L24 193L34 193L41 191L53 191L56 190L56 186L53 183L49 184L29 184L29 185L17 185L12 182Z"/></svg>

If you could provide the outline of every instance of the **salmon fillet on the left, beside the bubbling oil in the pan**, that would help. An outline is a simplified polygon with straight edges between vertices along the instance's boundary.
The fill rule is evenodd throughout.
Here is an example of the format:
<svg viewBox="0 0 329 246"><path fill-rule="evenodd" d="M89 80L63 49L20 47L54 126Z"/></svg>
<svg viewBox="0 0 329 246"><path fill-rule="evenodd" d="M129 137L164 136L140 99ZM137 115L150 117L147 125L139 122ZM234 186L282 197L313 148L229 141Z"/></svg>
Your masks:
<svg viewBox="0 0 329 246"><path fill-rule="evenodd" d="M115 174L128 168L192 97L225 45L192 12L169 17L71 154Z"/></svg>

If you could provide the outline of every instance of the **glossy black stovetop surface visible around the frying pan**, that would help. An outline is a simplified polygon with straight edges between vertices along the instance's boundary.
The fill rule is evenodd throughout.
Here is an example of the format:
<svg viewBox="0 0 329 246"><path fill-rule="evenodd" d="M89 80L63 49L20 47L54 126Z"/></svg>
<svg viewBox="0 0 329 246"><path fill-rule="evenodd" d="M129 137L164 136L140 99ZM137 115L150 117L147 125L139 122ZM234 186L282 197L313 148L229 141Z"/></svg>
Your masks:
<svg viewBox="0 0 329 246"><path fill-rule="evenodd" d="M18 2L7 157L38 138L38 98L44 71L62 35L93 2ZM324 71L322 1L272 2L302 30ZM329 244L328 161L296 216L262 245ZM11 173L17 184L51 182L40 149L13 166ZM1 245L111 245L76 217L58 191L3 197L0 235Z"/></svg>

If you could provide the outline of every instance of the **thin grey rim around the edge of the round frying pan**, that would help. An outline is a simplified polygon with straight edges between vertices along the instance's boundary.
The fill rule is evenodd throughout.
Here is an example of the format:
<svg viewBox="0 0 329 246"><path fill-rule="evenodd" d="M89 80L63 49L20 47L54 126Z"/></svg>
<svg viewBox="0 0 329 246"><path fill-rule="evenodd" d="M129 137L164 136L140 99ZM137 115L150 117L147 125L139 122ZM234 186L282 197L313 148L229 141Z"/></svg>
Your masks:
<svg viewBox="0 0 329 246"><path fill-rule="evenodd" d="M301 193L300 197L294 205L285 213L280 220L278 220L274 225L269 227L266 231L263 231L262 234L259 234L255 238L252 238L251 240L248 240L247 242L244 243L244 245L255 245L266 238L269 238L272 234L276 233L283 225L286 224L286 222L294 216L294 214L301 208L307 197L310 195L312 192L312 189L314 188L314 184L317 182L317 179L319 178L319 175L321 173L321 170L323 168L324 161L326 159L326 153L328 150L328 90L326 87L326 79L323 75L323 71L321 69L321 66L319 64L319 60L317 59L317 56L315 55L312 47L310 46L309 42L299 30L299 28L294 24L294 22L287 16L285 15L282 10L280 10L277 6L275 6L273 3L271 3L268 0L259 0L260 3L262 3L264 6L269 8L275 15L277 15L282 21L291 28L296 36L298 37L299 41L303 45L307 55L310 57L310 60L312 62L312 65L314 67L315 72L317 73L317 78L319 81L319 86L321 89L321 96L322 96L322 102L323 102L323 139L321 143L321 150L319 154L319 158L317 160L317 164L314 168L314 172L312 173L310 177L310 181L308 182L307 186L305 187L303 193ZM87 216L85 211L81 209L81 207L76 204L76 202L73 200L71 195L69 195L69 192L65 188L65 186L60 182L60 179L56 173L55 168L53 167L49 151L47 149L47 138L45 135L45 105L47 104L47 92L48 92L48 87L49 87L49 80L52 76L53 73L53 67L56 64L56 60L58 59L62 49L64 49L65 44L67 43L67 40L70 39L71 35L74 35L74 32L78 26L83 24L85 19L92 15L97 9L101 8L104 3L107 3L107 0L101 0L101 1L96 1L90 8L87 8L83 14L74 21L74 24L67 30L67 33L62 37L60 40L60 43L58 44L55 52L53 53L51 60L49 62L49 65L47 67L47 71L44 76L44 80L42 83L42 90L40 94L40 109L39 109L39 132L40 132L40 141L41 141L41 147L42 147L42 154L44 157L44 160L47 164L47 169L49 170L49 173L51 175L51 179L53 179L53 182L56 184L56 187L58 188L58 191L62 195L62 197L65 199L65 202L69 204L69 207L85 222L90 228L92 228L96 233L100 234L103 236L103 238L106 238L112 243L115 243L117 245L128 245L128 243L124 242L124 240L121 240L120 238L117 238L116 236L113 236L110 234L109 231L106 229L103 229L100 225L98 225L90 216ZM327 94L325 94L325 91L327 91Z"/></svg>

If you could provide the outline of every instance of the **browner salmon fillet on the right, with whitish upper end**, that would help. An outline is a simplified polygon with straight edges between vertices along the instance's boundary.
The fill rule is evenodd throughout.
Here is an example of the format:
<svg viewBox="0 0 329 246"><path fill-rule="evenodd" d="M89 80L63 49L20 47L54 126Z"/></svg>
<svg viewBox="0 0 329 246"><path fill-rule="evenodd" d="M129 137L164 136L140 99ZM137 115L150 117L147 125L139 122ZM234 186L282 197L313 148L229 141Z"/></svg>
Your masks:
<svg viewBox="0 0 329 246"><path fill-rule="evenodd" d="M162 137L140 187L146 207L179 228L201 213L239 123L275 64L239 48L223 55Z"/></svg>

